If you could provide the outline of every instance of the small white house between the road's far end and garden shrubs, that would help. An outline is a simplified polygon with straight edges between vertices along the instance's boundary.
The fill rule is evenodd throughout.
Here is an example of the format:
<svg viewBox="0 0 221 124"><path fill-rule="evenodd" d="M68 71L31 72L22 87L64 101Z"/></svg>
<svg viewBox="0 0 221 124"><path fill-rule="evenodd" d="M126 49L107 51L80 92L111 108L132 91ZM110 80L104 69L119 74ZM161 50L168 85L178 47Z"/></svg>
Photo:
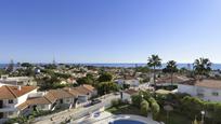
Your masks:
<svg viewBox="0 0 221 124"><path fill-rule="evenodd" d="M132 102L131 96L132 96L132 95L136 95L136 94L139 94L139 91L135 91L135 89L132 89L132 88L127 89L127 91L125 91L125 92L121 93L121 99L122 99L123 101Z"/></svg>

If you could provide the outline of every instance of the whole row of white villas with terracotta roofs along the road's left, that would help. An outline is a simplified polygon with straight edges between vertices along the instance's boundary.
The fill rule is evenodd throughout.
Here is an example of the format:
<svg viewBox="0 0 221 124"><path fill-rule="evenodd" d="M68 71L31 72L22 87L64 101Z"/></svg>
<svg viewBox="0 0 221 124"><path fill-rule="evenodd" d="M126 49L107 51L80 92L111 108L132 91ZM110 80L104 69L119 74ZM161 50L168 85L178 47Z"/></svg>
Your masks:
<svg viewBox="0 0 221 124"><path fill-rule="evenodd" d="M91 85L73 88L37 92L35 86L0 86L0 124L20 114L28 115L36 110L53 111L56 107L77 108L96 96Z"/></svg>

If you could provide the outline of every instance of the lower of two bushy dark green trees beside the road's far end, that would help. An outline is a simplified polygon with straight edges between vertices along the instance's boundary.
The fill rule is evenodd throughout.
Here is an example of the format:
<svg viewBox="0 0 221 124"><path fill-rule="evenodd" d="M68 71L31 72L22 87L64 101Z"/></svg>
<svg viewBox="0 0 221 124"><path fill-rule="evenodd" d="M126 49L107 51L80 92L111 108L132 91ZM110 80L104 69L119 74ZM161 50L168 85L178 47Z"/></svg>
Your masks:
<svg viewBox="0 0 221 124"><path fill-rule="evenodd" d="M110 92L117 92L119 87L114 82L102 82L98 85L98 92L100 95L109 94Z"/></svg>

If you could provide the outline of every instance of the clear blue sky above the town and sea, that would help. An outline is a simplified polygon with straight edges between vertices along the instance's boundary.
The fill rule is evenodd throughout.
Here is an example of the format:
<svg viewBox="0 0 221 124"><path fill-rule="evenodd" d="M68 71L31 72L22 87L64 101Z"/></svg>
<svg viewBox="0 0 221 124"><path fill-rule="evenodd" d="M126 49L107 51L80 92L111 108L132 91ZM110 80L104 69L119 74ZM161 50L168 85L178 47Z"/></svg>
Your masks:
<svg viewBox="0 0 221 124"><path fill-rule="evenodd" d="M221 0L1 0L0 63L221 63Z"/></svg>

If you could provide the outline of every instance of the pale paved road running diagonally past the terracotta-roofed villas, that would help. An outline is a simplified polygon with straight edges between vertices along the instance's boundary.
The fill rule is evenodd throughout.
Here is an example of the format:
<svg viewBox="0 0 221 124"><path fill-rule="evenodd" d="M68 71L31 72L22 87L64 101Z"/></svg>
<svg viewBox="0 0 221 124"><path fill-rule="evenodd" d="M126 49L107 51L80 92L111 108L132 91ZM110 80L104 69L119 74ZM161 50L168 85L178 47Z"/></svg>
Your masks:
<svg viewBox="0 0 221 124"><path fill-rule="evenodd" d="M110 107L112 100L117 99L117 98L120 98L120 95L110 94L110 95L105 96L104 98L100 98L102 102L98 105L87 107L87 108L66 110L66 111L62 111L62 112L58 112L52 115L38 118L36 119L34 123L35 124L60 124L61 122L64 122L66 119L70 119L70 118L73 120L77 120L77 119L86 116L88 113L92 113L101 109L102 107L105 107L105 108ZM53 121L51 121L51 118L53 118Z"/></svg>

